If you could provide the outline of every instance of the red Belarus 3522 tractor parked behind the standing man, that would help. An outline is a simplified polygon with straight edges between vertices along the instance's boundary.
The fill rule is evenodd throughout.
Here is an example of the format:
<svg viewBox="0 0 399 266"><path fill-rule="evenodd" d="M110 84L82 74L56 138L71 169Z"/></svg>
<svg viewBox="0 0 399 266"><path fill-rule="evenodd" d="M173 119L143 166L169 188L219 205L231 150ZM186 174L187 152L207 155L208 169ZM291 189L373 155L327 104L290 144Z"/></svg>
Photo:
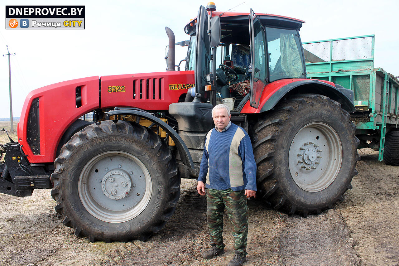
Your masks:
<svg viewBox="0 0 399 266"><path fill-rule="evenodd" d="M174 213L180 178L196 178L211 109L231 103L249 132L258 194L290 214L331 208L351 188L354 93L306 79L303 21L200 7L186 25L184 71L86 77L30 92L0 192L52 188L55 210L90 241L146 240Z"/></svg>

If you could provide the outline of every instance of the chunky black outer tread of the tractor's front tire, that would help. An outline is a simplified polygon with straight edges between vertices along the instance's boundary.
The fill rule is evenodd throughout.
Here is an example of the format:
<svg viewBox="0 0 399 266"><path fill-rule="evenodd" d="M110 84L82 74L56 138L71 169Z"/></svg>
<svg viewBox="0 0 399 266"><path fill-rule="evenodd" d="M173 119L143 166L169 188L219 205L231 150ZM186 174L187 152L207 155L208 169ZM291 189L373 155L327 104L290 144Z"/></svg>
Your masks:
<svg viewBox="0 0 399 266"><path fill-rule="evenodd" d="M151 225L140 235L134 235L132 232L120 233L116 237L108 237L107 234L97 235L92 233L89 229L82 230L77 222L69 218L69 213L67 208L65 208L65 203L63 201L61 179L64 165L66 165L73 155L74 151L85 143L85 141L94 139L99 136L106 134L118 134L118 135L128 135L131 137L138 137L141 141L147 143L151 149L154 149L158 154L163 163L167 165L167 175L169 179L169 190L166 202L166 208L163 214L157 218L152 224L158 224L157 226ZM166 221L172 216L180 196L180 175L177 167L177 162L172 155L168 145L160 139L153 131L143 127L137 123L127 123L124 121L101 121L95 124L91 124L82 131L79 131L71 137L62 148L61 153L54 162L55 171L51 174L50 180L53 184L53 189L51 190L51 196L56 200L57 204L55 210L62 214L64 217L63 224L65 226L71 227L75 230L76 236L87 236L91 242L102 240L104 242L113 241L124 241L127 242L134 238L145 241L153 233L158 232L166 224ZM157 228L154 230L154 228Z"/></svg>

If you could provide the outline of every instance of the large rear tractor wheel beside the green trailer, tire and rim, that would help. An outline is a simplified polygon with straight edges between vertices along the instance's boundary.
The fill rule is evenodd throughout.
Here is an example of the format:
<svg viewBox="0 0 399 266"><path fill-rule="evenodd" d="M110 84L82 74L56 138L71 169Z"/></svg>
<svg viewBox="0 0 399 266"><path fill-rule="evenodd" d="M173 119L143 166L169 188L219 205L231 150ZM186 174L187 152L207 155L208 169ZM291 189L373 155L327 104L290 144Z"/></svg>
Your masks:
<svg viewBox="0 0 399 266"><path fill-rule="evenodd" d="M349 119L338 102L299 94L259 120L253 148L258 187L267 203L307 216L342 200L360 158Z"/></svg>

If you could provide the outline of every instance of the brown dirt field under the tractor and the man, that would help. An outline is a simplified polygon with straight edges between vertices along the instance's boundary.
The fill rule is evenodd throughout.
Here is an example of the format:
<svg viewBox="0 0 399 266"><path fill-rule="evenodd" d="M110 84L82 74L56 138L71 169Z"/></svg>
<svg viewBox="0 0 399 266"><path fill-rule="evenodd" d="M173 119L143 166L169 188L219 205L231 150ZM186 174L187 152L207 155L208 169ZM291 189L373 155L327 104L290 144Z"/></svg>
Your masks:
<svg viewBox="0 0 399 266"><path fill-rule="evenodd" d="M250 200L245 265L399 265L399 167L359 151L359 175L344 201L318 216L288 216ZM182 179L174 216L147 242L91 243L65 227L50 190L33 197L0 194L1 265L225 265L233 256L229 225L226 253L205 261L205 198L196 181ZM227 217L225 217L227 223Z"/></svg>

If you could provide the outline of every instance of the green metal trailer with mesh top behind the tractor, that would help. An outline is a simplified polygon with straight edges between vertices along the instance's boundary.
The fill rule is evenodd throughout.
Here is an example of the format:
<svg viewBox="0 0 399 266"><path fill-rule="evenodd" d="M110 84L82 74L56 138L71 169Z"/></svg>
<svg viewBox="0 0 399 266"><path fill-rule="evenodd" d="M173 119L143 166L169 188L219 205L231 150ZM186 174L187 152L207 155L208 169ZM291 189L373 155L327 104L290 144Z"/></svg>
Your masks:
<svg viewBox="0 0 399 266"><path fill-rule="evenodd" d="M304 42L307 77L352 89L359 149L379 151L379 161L399 165L398 79L374 68L374 35Z"/></svg>

